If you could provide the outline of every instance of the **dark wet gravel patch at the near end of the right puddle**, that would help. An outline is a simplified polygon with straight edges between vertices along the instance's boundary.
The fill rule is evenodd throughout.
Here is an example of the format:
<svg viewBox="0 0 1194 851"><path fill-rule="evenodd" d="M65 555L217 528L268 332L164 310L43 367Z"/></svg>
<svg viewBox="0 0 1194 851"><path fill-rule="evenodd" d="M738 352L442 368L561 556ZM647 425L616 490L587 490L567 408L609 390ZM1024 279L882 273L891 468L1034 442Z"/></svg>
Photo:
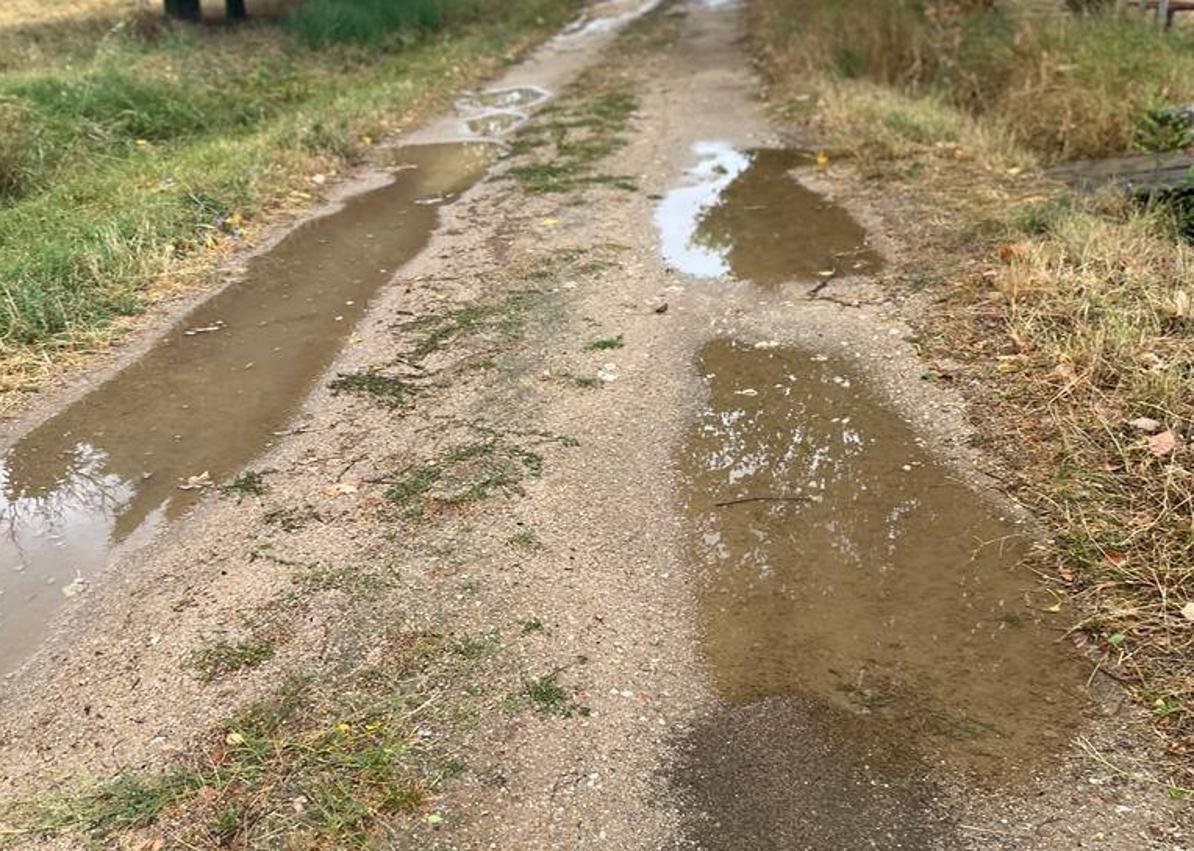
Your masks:
<svg viewBox="0 0 1194 851"><path fill-rule="evenodd" d="M687 837L703 851L958 847L924 766L863 723L795 698L702 719L675 747Z"/></svg>

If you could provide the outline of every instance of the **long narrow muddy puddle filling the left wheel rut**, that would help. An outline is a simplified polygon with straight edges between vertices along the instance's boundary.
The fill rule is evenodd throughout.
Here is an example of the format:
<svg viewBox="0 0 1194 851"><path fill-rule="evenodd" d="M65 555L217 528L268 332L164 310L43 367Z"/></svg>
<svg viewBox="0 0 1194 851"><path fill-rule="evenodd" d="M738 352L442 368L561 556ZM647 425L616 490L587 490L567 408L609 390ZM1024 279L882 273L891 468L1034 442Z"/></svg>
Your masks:
<svg viewBox="0 0 1194 851"><path fill-rule="evenodd" d="M350 198L252 259L142 357L17 443L0 463L0 672L118 547L266 449L365 304L426 245L437 206L493 150L395 152L389 185ZM198 485L183 489L187 483Z"/></svg>

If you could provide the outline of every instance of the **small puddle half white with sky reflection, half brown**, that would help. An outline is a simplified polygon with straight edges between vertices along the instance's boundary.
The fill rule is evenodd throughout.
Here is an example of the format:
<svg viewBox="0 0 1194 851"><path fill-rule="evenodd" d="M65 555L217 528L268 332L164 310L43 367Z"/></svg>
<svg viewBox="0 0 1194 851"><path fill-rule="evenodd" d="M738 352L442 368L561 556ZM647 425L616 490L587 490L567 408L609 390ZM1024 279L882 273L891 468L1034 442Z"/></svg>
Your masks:
<svg viewBox="0 0 1194 851"><path fill-rule="evenodd" d="M824 282L881 267L858 222L793 175L807 152L693 148L697 165L656 208L664 260L702 278Z"/></svg>

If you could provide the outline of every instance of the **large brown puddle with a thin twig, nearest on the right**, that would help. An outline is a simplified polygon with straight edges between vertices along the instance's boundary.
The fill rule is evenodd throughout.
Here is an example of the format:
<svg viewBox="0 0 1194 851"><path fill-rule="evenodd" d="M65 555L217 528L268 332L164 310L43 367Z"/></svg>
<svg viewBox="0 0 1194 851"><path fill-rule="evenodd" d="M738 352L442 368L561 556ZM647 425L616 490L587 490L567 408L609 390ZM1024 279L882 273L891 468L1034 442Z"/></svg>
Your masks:
<svg viewBox="0 0 1194 851"><path fill-rule="evenodd" d="M998 785L1045 766L1089 670L1017 568L1024 530L844 363L718 340L698 371L708 405L678 464L728 705L789 698L841 759L896 776L931 763Z"/></svg>

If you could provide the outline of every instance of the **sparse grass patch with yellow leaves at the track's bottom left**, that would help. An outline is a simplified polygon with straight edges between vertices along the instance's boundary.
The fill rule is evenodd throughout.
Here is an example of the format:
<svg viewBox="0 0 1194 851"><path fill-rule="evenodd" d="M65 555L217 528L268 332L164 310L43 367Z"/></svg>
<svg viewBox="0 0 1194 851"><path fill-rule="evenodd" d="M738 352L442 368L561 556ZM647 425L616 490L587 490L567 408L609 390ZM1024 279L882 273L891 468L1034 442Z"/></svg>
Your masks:
<svg viewBox="0 0 1194 851"><path fill-rule="evenodd" d="M186 847L376 847L463 770L450 750L488 645L400 634L382 666L287 679L213 730L202 753L76 794L16 803L13 837ZM482 648L478 650L476 648Z"/></svg>

